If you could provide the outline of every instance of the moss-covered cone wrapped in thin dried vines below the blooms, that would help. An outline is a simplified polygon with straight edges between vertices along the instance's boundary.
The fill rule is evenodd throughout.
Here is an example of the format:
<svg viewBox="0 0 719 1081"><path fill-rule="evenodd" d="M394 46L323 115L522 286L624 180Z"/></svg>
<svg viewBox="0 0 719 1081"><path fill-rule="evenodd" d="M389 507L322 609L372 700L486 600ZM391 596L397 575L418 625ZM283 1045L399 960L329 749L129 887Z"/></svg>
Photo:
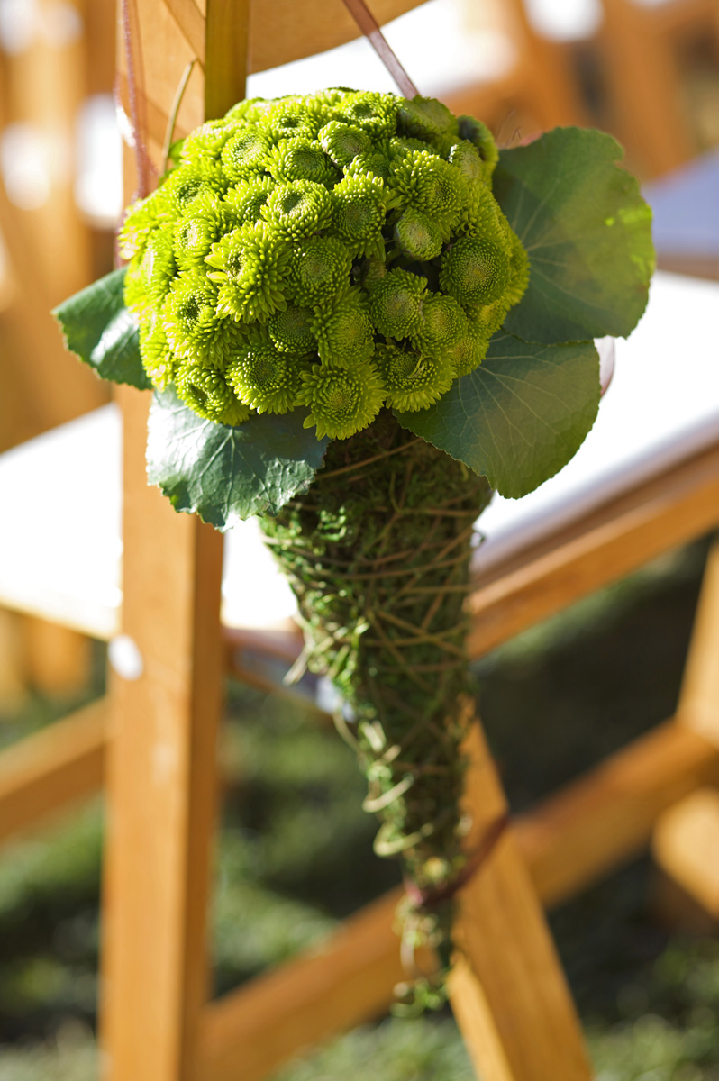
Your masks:
<svg viewBox="0 0 719 1081"><path fill-rule="evenodd" d="M444 960L447 900L466 858L464 600L490 495L484 478L383 411L331 444L306 495L263 520L298 598L307 664L346 704L339 723L368 778L364 808L382 819L375 851L401 857L413 883L408 934L429 934Z"/></svg>

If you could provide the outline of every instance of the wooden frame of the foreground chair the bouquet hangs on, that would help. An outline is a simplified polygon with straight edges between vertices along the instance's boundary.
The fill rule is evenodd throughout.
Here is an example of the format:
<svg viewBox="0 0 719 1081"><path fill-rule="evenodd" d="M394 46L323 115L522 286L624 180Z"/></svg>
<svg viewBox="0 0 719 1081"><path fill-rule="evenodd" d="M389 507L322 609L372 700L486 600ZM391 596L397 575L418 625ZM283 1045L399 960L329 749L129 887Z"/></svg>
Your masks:
<svg viewBox="0 0 719 1081"><path fill-rule="evenodd" d="M281 6L278 27L295 54L311 48L310 6ZM150 152L157 155L163 110L195 55L211 76L204 89L208 116L242 96L238 57L248 53L250 13L243 3L209 0L205 25L194 3L179 0L142 0L136 11L134 40L142 41L146 62L152 57L144 69L144 108ZM250 23L265 50L285 40L267 34L268 11L269 5L253 5ZM303 18L309 29L303 30ZM342 32L352 32L351 26ZM276 54L275 63L291 56ZM192 79L181 110L184 128L202 119L199 75ZM222 538L197 520L176 516L146 486L147 396L124 390L118 403L124 550L115 657L121 673L114 675L106 702L3 756L3 829L27 828L104 780L107 1076L115 1081L259 1081L299 1047L386 1006L394 984L403 977L391 930L397 897L357 915L321 951L222 1000L208 1000L207 896L225 648ZM661 476L644 477L618 494L615 490L580 519L565 520L551 536L485 571L470 601L472 655L718 522L715 439L690 452L684 448ZM710 598L717 592L711 583ZM520 819L463 891L457 929L463 953L452 976L452 998L488 1081L589 1077L537 893L544 903L567 896L644 844L661 811L717 779L716 686L704 675L714 633L709 612L692 653L700 675L688 684L694 690L679 721ZM237 654L236 642L230 649ZM468 801L481 831L505 801L478 726L471 749Z"/></svg>

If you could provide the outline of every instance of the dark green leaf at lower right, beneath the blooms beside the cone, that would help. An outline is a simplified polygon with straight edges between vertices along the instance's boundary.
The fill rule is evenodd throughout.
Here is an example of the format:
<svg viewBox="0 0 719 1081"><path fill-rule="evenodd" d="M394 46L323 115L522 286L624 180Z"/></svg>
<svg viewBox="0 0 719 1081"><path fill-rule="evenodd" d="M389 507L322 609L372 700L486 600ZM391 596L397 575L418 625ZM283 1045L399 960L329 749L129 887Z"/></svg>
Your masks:
<svg viewBox="0 0 719 1081"><path fill-rule="evenodd" d="M542 345L503 334L436 405L396 415L518 499L574 456L595 422L599 389L591 342Z"/></svg>

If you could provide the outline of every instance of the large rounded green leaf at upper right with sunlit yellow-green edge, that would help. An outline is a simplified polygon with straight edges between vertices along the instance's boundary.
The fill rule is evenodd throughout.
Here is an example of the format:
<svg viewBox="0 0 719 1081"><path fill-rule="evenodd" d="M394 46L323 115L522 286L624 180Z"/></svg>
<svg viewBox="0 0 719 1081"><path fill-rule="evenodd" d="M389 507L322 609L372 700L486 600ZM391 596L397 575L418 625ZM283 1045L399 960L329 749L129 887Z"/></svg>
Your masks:
<svg viewBox="0 0 719 1081"><path fill-rule="evenodd" d="M530 342L626 337L647 306L654 269L651 211L615 164L603 132L556 128L503 150L494 195L531 262L523 299L504 329Z"/></svg>

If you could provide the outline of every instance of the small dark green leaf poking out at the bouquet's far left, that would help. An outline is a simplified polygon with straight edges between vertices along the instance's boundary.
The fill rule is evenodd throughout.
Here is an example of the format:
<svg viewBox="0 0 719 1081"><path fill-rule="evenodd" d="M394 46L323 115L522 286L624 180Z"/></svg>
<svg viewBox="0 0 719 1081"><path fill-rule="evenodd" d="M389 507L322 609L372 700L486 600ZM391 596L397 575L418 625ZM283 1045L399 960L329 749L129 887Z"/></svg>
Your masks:
<svg viewBox="0 0 719 1081"><path fill-rule="evenodd" d="M124 306L123 284L124 267L64 301L53 315L67 348L101 378L148 390L151 384L139 359L137 320Z"/></svg>

